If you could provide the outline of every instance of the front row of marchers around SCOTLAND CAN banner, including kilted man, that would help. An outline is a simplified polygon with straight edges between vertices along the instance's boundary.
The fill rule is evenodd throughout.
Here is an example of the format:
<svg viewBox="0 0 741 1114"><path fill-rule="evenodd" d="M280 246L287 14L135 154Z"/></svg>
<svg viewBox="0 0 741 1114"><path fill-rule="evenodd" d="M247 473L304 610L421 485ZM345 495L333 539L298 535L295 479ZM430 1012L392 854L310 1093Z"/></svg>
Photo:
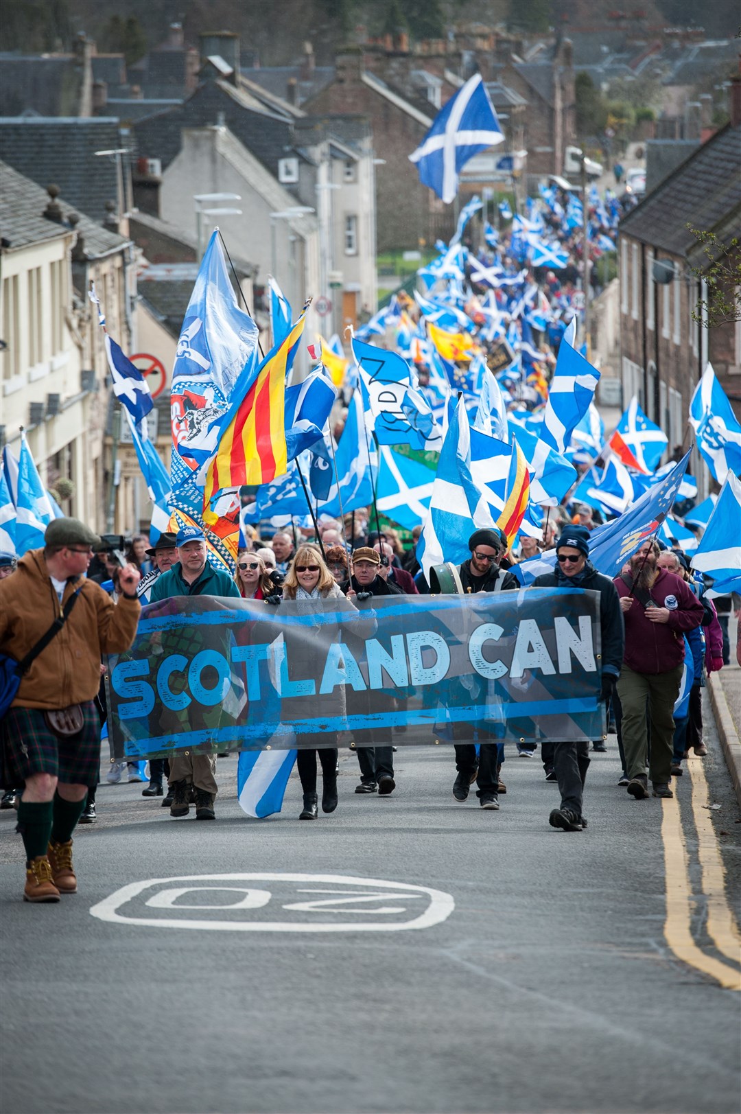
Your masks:
<svg viewBox="0 0 741 1114"><path fill-rule="evenodd" d="M728 663L728 639L724 643L714 605L684 554L666 549L654 537L642 543L614 580L599 574L589 560L587 511L559 514L552 525L557 537L544 540L548 547L555 545L554 570L537 577L533 586L599 593L602 700L617 733L620 784L635 800L651 793L672 797L672 779L682 774L689 750L706 753L701 688L706 673ZM95 820L106 720L101 658L130 647L142 603L211 595L257 599L274 608L284 599L332 598L341 610L362 612L363 603L374 596L429 592L413 546L404 551L394 530L369 529L360 515L347 524L323 522L319 536L309 539L279 531L263 541L256 529L248 534L234 578L209 563L206 539L196 527L162 534L153 547L137 537L121 563L105 540L74 518L52 520L43 548L30 550L17 564L0 561L0 654L8 655L3 664L11 659L14 677L14 687L8 692L6 685L3 694L2 807L18 809L17 831L27 858L26 900L57 901L60 893L77 889L72 833L79 821ZM510 569L532 556L534 546L524 539L515 556L499 530L484 529L471 535L468 548L470 557L456 569L464 594L518 589ZM686 714L680 716L675 705L685 637L694 680ZM330 813L338 805L338 750L311 749L306 746L311 740L303 742L298 756L301 819L314 820L318 760L321 808ZM454 743L454 799L465 802L476 783L480 808L498 810L506 793L503 744L486 727L472 731L462 723L455 725ZM355 792L392 793L394 747L388 739L378 729L368 729L355 732L355 746L360 765ZM594 740L592 747L604 751L604 737ZM533 744L518 745L524 756L534 750ZM560 792L549 823L564 831L585 829L589 743L544 742L542 758L546 780L557 782ZM215 774L216 756L209 754L179 752L169 762L153 759L143 794L160 797L172 817L185 817L195 805L197 819L214 819ZM124 776L140 781L143 772L137 763L111 762L107 780Z"/></svg>

